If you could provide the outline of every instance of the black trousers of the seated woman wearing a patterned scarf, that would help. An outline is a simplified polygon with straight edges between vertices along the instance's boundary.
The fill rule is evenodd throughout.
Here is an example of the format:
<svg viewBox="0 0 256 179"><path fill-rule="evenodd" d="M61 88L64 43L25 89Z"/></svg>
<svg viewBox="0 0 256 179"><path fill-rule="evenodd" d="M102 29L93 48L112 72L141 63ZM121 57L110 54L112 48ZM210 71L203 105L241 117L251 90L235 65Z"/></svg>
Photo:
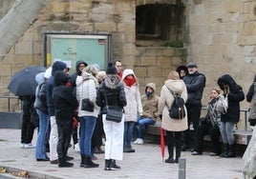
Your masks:
<svg viewBox="0 0 256 179"><path fill-rule="evenodd" d="M212 152L216 154L221 153L221 144L220 144L220 129L218 126L212 126L211 124L203 124L198 126L196 130L196 143L195 143L195 151L200 153L203 152L203 137L209 134L212 142Z"/></svg>

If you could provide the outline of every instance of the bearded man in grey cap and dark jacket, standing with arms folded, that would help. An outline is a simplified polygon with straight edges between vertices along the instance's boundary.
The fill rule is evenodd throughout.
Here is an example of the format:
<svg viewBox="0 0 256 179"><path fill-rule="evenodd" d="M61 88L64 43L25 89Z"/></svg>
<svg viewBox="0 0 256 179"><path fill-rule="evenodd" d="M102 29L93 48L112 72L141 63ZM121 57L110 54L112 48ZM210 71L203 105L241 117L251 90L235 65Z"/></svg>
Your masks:
<svg viewBox="0 0 256 179"><path fill-rule="evenodd" d="M188 74L182 79L186 85L188 98L186 101L188 129L183 133L183 145L182 151L190 149L189 143L191 141L190 124L193 124L194 130L199 126L199 119L201 116L202 109L202 97L203 89L205 87L205 76L203 73L198 71L198 66L195 62L189 62L187 64Z"/></svg>

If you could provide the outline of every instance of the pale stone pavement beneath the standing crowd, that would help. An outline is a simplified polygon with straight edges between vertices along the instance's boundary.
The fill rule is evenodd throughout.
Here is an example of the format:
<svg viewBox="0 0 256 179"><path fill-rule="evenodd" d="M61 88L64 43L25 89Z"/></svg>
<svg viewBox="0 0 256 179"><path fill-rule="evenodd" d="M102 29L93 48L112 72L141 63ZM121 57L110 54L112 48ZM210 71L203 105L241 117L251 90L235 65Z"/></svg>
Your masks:
<svg viewBox="0 0 256 179"><path fill-rule="evenodd" d="M36 134L35 134L36 135ZM36 136L32 141L35 144ZM123 161L117 161L120 170L104 170L104 154L96 154L96 163L99 168L83 169L79 167L80 156L73 148L69 155L75 157L72 162L74 168L59 169L50 162L37 162L34 159L34 149L20 149L20 129L0 129L0 167L9 170L0 174L0 178L13 178L11 171L28 170L30 178L44 179L96 179L96 178L179 178L179 165L166 164L161 160L160 145L144 144L134 145L135 153L124 153ZM165 148L165 158L168 157ZM186 179L243 179L241 172L242 158L220 158L203 155L192 156L189 151L181 152L181 157L186 159ZM14 177L20 178L20 177Z"/></svg>

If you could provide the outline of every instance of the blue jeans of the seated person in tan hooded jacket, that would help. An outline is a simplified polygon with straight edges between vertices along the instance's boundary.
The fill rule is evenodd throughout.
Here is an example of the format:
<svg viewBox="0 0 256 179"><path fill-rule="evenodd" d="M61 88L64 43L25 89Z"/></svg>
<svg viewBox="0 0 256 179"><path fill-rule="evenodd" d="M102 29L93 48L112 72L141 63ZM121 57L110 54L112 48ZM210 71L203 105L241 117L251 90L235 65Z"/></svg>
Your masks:
<svg viewBox="0 0 256 179"><path fill-rule="evenodd" d="M138 122L135 123L134 126L134 131L136 133L137 138L143 139L144 136L144 130L146 128L147 125L155 125L156 121L154 121L151 118L143 118L143 117L138 117ZM138 129L139 126L139 129Z"/></svg>

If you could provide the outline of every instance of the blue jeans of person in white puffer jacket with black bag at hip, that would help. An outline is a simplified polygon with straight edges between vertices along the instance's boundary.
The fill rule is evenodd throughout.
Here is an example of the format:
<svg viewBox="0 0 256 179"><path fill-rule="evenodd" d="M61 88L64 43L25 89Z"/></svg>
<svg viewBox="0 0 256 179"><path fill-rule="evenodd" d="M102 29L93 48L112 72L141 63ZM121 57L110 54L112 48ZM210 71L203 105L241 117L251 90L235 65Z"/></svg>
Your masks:
<svg viewBox="0 0 256 179"><path fill-rule="evenodd" d="M80 117L80 153L81 155L91 156L92 136L96 128L96 117L82 116Z"/></svg>

